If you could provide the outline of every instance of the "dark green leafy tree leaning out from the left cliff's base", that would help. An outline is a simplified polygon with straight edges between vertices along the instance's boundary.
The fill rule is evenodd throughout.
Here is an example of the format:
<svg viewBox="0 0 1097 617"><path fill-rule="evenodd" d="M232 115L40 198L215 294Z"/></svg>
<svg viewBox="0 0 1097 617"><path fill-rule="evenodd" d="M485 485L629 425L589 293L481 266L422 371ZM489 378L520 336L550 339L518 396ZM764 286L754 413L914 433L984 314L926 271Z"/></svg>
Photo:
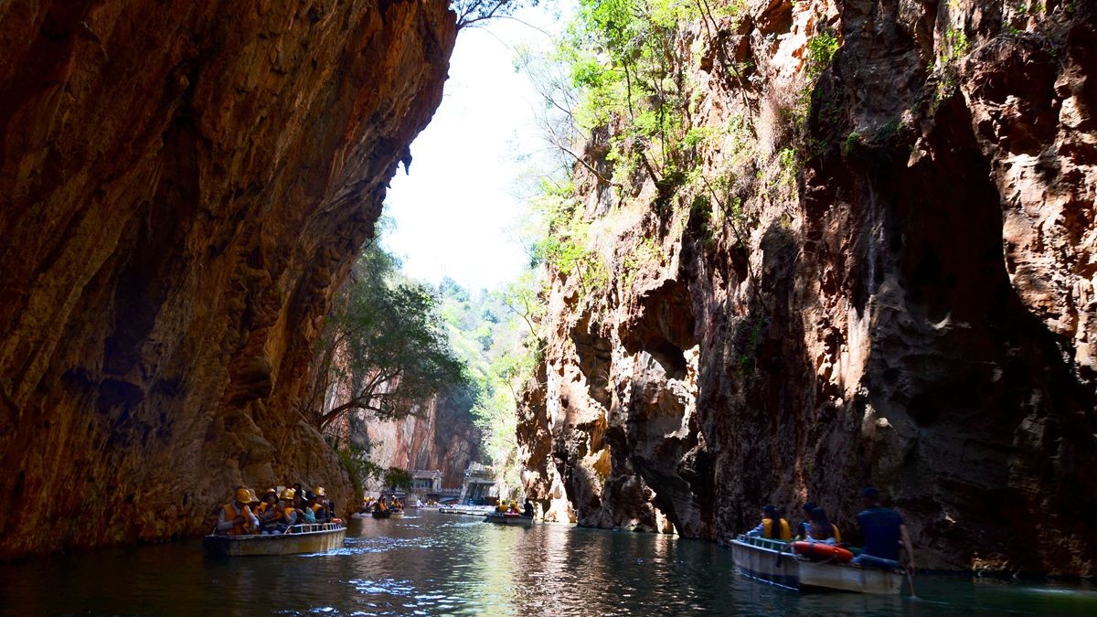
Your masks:
<svg viewBox="0 0 1097 617"><path fill-rule="evenodd" d="M400 418L470 383L433 294L400 279L392 256L371 245L325 322L305 416L321 430L357 411Z"/></svg>

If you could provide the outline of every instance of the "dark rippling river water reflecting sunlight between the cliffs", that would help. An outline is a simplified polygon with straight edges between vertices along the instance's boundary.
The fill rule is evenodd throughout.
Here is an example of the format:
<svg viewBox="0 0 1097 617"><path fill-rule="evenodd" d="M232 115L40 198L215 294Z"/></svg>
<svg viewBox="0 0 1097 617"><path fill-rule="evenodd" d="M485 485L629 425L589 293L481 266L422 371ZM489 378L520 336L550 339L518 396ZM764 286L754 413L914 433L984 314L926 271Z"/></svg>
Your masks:
<svg viewBox="0 0 1097 617"><path fill-rule="evenodd" d="M218 560L184 541L3 564L0 581L12 615L1097 615L1092 585L918 576L917 599L799 594L711 542L434 512L351 520L326 554Z"/></svg>

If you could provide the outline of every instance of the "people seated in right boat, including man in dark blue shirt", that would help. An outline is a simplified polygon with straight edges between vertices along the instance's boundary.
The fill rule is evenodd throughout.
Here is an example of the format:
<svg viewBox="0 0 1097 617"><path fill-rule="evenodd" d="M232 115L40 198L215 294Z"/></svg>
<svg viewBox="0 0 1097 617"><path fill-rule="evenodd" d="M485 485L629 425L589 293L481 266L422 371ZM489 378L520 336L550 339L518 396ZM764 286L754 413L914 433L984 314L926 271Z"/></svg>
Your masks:
<svg viewBox="0 0 1097 617"><path fill-rule="evenodd" d="M914 572L914 547L911 535L903 521L903 516L891 508L880 505L880 491L867 486L861 491L864 509L857 515L864 546L851 548L841 541L838 526L830 523L826 511L808 502L804 504L804 520L795 528L799 542L794 550L801 554L818 559L833 559L839 562L851 562L867 568L896 570L900 564L900 548L906 551L905 563L907 572ZM790 541L793 539L789 521L773 505L762 508L762 519L757 527L746 532L747 537L761 537L774 540Z"/></svg>

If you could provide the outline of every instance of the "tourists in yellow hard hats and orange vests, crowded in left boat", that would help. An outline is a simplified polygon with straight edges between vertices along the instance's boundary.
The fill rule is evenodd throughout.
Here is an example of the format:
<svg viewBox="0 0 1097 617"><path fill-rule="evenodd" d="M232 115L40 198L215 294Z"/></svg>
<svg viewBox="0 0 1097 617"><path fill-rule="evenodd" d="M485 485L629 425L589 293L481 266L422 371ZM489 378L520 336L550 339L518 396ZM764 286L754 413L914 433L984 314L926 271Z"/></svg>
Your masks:
<svg viewBox="0 0 1097 617"><path fill-rule="evenodd" d="M218 536L281 535L294 526L338 521L324 486L310 491L301 483L281 491L268 489L261 498L253 490L237 486L233 501L219 509L214 529Z"/></svg>

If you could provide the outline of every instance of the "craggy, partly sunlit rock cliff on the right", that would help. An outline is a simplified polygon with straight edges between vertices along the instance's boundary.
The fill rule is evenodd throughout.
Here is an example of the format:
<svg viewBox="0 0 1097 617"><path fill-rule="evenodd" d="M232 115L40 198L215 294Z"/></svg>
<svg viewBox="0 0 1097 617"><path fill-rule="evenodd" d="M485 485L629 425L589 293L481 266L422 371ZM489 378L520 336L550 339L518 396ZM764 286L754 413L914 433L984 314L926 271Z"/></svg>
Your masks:
<svg viewBox="0 0 1097 617"><path fill-rule="evenodd" d="M806 500L856 539L873 483L921 566L1092 575L1097 8L747 4L680 42L694 124L722 127L694 164L726 199L659 207L648 181L614 205L577 168L612 276L551 272L527 487L581 524L665 513L726 541ZM840 47L807 82L824 30Z"/></svg>

